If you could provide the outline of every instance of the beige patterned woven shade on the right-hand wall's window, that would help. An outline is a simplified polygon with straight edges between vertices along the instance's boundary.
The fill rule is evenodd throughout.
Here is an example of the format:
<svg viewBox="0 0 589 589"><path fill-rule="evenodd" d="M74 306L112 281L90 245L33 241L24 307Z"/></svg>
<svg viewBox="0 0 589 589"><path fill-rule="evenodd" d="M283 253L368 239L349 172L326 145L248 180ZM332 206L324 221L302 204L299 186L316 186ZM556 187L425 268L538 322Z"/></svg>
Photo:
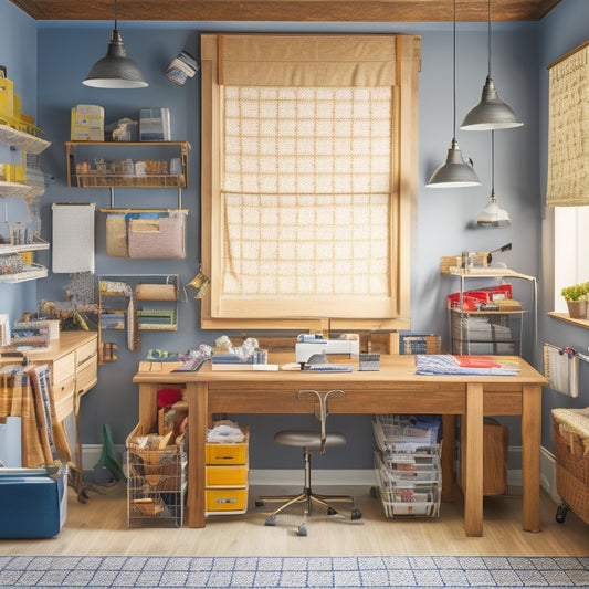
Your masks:
<svg viewBox="0 0 589 589"><path fill-rule="evenodd" d="M589 42L549 65L546 203L589 204Z"/></svg>

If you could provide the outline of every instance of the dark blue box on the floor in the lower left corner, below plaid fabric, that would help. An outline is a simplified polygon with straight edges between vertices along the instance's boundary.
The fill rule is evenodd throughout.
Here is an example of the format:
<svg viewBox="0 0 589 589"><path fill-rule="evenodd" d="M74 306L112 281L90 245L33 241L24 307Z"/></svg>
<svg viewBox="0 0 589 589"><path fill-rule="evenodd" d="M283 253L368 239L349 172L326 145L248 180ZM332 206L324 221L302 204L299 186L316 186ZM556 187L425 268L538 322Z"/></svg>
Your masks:
<svg viewBox="0 0 589 589"><path fill-rule="evenodd" d="M67 515L67 467L0 467L0 538L56 536Z"/></svg>

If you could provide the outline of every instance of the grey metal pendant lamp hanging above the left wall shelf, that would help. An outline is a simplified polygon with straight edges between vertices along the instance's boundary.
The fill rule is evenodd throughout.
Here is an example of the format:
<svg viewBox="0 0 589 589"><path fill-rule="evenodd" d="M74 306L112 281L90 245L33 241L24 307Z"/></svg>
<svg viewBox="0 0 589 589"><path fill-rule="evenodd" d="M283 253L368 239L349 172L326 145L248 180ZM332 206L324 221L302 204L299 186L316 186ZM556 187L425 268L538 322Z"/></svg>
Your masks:
<svg viewBox="0 0 589 589"><path fill-rule="evenodd" d="M96 88L145 88L149 84L137 64L127 57L123 38L118 32L115 0L115 28L108 40L106 55L98 60L82 82Z"/></svg>

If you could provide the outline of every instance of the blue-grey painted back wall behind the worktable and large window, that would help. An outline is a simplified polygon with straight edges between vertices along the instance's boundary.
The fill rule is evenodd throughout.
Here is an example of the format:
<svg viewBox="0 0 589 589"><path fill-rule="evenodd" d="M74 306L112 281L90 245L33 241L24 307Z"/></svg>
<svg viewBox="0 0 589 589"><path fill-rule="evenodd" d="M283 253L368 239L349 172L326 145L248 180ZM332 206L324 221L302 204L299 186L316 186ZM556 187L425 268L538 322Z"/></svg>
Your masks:
<svg viewBox="0 0 589 589"><path fill-rule="evenodd" d="M39 46L36 64L38 120L53 141L44 155L44 166L54 176L42 201L43 236L51 240L52 202L96 202L97 208L109 206L107 190L69 189L65 178L63 141L69 138L70 109L76 104L99 104L105 108L106 120L122 116L137 116L143 107L167 106L172 114L172 138L188 140L190 151L190 188L183 191L183 206L190 209L188 219L188 256L179 261L129 261L106 257L104 215L96 214L97 274L178 273L181 282L196 274L200 250L200 81L189 80L180 88L171 84L164 71L176 54L186 49L199 54L199 33L202 32L398 32L422 36L422 66L420 73L420 129L419 129L419 194L417 225L412 248L411 308L416 332L443 334L448 343L445 296L457 290L457 281L442 276L439 271L441 255L459 254L463 250L488 251L512 242L513 251L502 254L509 267L524 274L539 275L540 229L543 199L540 182L544 170L540 150L545 145L543 69L545 45L558 31L559 38L569 41L561 32L566 23L575 30L589 22L586 0L564 0L540 23L494 23L493 78L502 98L523 118L525 126L495 134L495 191L499 204L512 217L512 228L498 230L472 229L478 211L485 206L491 191L491 140L487 133L456 132L465 156L472 157L483 181L472 189L429 189L424 185L435 167L445 159L452 138L452 27L432 23L375 23L375 24L318 24L318 23L127 23L119 22L129 56L143 69L150 86L139 91L105 91L81 84L91 65L104 55L112 22L38 22L29 28L27 18L20 15L8 0L0 0L0 22L4 17L35 36ZM568 15L570 11L570 17ZM15 12L15 14L14 14ZM21 20L24 23L21 24ZM10 27L10 23L9 23ZM587 28L587 27L586 27ZM12 34L12 33L11 33ZM582 31L579 31L582 36ZM22 34L21 36L24 36ZM572 35L575 36L575 35ZM586 35L587 36L587 35ZM4 36L2 35L3 39ZM3 41L0 40L0 49ZM6 43L6 42L4 42ZM560 48L554 43L554 52ZM578 43L571 43L575 46ZM564 50L566 51L566 49ZM3 55L3 52L0 53ZM557 56L557 55L555 55ZM554 59L554 57L551 57ZM0 60L1 62L1 60ZM9 63L10 66L10 63ZM456 36L456 103L457 125L467 109L480 99L487 70L486 23L459 24ZM538 93L538 90L540 91ZM138 192L117 190L116 206L175 206L175 191L156 189ZM50 265L49 253L41 256ZM41 260L43 261L43 260ZM66 276L52 275L38 283L39 298L63 298ZM1 287L1 285L0 285ZM532 307L532 288L528 283L514 281L514 296ZM8 294L4 294L8 293ZM14 294L13 294L14 293ZM0 312L15 305L19 294L0 291ZM541 307L540 307L541 309ZM540 313L540 317L543 313ZM544 319L541 325L544 324ZM137 388L132 383L137 362L149 348L159 347L183 351L201 343L211 344L218 333L199 329L199 306L192 299L180 303L180 326L175 334L143 332L140 353L130 353L119 340L119 360L99 368L98 386L83 400L83 443L102 441L102 424L111 423L116 443L125 437L137 420ZM559 326L560 327L560 326ZM549 326L551 328L551 326ZM562 329L565 329L562 327ZM575 329L575 328L572 328ZM579 334L581 338L586 333ZM111 336L111 334L109 334ZM562 338L568 337L564 332ZM572 344L566 341L566 344ZM532 350L535 351L535 350ZM537 354L530 353L532 358ZM532 359L530 358L530 359ZM541 369L541 364L537 365ZM548 393L550 395L550 393ZM585 403L587 404L587 403ZM234 416L252 430L252 467L299 467L298 452L288 454L276 450L271 440L274 431L284 425L311 424L312 418L286 416ZM347 449L334 450L326 456L324 467L370 469L374 448L368 417L333 416L332 427L345 431L349 439ZM545 416L546 420L546 416ZM545 421L545 423L547 423ZM544 428L546 431L546 427ZM518 443L518 429L512 428L511 443ZM550 446L549 439L544 440ZM327 464L328 463L328 464ZM320 465L320 464L319 464Z"/></svg>

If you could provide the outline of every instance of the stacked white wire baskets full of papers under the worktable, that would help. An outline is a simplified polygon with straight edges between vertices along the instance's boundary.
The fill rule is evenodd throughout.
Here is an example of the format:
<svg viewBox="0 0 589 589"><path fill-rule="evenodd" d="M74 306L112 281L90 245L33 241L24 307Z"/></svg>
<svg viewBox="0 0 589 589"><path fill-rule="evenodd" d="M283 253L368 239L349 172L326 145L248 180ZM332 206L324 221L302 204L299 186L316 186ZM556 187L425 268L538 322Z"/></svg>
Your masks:
<svg viewBox="0 0 589 589"><path fill-rule="evenodd" d="M414 422L404 416L375 416L375 471L387 517L438 517L442 492L439 418Z"/></svg>

